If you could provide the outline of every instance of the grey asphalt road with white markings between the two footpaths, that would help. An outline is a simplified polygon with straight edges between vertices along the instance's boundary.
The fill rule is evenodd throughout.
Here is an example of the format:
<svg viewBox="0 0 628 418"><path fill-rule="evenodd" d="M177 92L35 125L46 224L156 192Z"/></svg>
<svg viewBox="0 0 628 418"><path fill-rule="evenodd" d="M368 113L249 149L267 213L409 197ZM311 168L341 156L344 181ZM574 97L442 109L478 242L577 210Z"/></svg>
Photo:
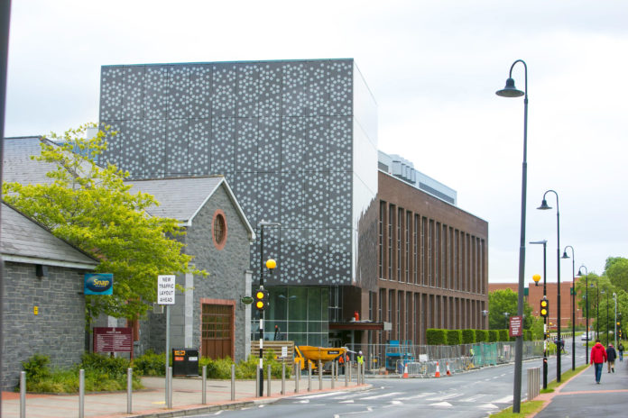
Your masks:
<svg viewBox="0 0 628 418"><path fill-rule="evenodd" d="M569 346L570 347L570 346ZM577 350L577 366L584 364L584 349ZM548 380L556 377L556 359L550 358ZM561 357L562 371L571 368L571 353ZM523 363L522 400L527 394L527 368L542 367L541 359ZM297 395L273 404L213 413L229 418L260 416L306 417L439 417L483 418L513 404L514 366L483 368L453 377L367 378L373 387L362 392Z"/></svg>

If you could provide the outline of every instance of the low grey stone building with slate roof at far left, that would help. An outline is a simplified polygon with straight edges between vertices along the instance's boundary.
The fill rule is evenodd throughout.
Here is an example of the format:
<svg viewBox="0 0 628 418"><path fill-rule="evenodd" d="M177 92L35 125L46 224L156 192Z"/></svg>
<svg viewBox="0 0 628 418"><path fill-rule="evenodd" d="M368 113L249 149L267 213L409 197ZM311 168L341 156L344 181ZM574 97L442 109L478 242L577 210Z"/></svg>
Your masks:
<svg viewBox="0 0 628 418"><path fill-rule="evenodd" d="M2 390L19 383L22 362L49 356L69 367L85 352L83 276L98 261L2 204L4 261Z"/></svg>

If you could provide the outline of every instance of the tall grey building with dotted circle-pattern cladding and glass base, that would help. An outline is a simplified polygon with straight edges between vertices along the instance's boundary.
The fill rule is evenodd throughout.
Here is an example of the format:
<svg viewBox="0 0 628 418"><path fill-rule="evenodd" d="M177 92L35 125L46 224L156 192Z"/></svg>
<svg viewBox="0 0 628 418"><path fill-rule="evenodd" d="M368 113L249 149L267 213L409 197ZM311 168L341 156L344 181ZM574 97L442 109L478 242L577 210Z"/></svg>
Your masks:
<svg viewBox="0 0 628 418"><path fill-rule="evenodd" d="M281 224L263 231L271 338L332 343L376 289L376 104L353 59L105 66L100 123L132 179L223 175L254 227Z"/></svg>

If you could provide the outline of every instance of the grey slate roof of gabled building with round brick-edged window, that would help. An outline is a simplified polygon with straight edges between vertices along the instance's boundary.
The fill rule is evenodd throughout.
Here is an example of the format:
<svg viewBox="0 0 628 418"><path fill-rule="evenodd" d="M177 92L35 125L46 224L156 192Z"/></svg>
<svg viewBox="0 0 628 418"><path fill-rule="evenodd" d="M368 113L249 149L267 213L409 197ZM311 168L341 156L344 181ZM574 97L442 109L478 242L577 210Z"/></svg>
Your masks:
<svg viewBox="0 0 628 418"><path fill-rule="evenodd" d="M245 212L238 204L231 187L223 176L209 177L176 177L160 178L154 180L128 180L126 184L132 185L130 192L139 191L153 195L159 206L152 206L146 209L152 216L173 218L184 226L191 226L194 217L200 209L207 203L218 187L224 187L226 194L234 204L242 222L245 223L249 233L249 239L255 239L255 232L251 224L246 219Z"/></svg>

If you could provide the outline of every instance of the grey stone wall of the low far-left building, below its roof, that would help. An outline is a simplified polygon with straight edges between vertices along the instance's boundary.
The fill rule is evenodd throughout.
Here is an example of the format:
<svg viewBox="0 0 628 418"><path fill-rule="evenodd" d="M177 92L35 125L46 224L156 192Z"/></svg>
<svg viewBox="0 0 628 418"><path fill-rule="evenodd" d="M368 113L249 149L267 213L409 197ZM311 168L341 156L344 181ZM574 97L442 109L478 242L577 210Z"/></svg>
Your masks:
<svg viewBox="0 0 628 418"><path fill-rule="evenodd" d="M33 354L49 356L54 367L80 361L85 348L83 274L49 267L48 276L39 278L32 264L5 263L2 390L14 389L22 361Z"/></svg>

